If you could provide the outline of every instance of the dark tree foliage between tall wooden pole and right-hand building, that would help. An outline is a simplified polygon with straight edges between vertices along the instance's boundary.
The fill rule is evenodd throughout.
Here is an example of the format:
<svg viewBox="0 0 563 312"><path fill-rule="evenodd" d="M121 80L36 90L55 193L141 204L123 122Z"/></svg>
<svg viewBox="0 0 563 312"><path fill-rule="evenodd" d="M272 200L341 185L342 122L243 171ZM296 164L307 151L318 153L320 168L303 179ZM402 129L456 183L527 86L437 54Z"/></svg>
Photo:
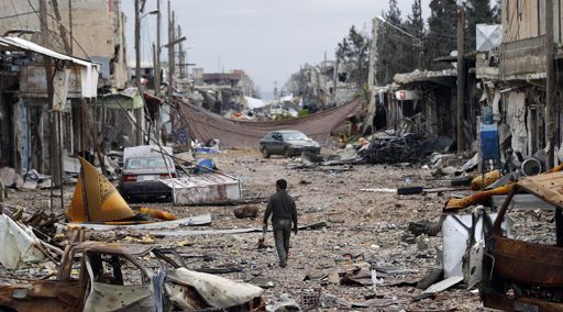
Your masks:
<svg viewBox="0 0 563 312"><path fill-rule="evenodd" d="M467 0L465 8L465 49L475 51L476 25L494 23L494 11L490 9L490 0Z"/></svg>

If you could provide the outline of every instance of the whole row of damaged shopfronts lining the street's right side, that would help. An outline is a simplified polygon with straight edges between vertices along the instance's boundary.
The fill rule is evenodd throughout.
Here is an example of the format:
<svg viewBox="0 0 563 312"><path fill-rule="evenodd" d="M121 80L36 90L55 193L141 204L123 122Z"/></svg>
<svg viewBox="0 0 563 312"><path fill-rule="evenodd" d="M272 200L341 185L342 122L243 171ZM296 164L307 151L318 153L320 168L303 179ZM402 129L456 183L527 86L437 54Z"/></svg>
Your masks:
<svg viewBox="0 0 563 312"><path fill-rule="evenodd" d="M561 77L558 65L563 55L561 2L553 1L558 77ZM545 1L505 0L501 5L501 24L478 24L476 51L464 57L466 85L463 131L466 148L477 138L478 118L487 110L493 112L498 124L503 149L511 148L521 152L525 157L536 155L543 158L543 149L548 145ZM454 63L455 57L442 57L440 60ZM421 123L428 133L455 138L455 68L398 74L394 81L394 85L380 88L377 97L378 105L385 109L387 126L397 129L404 118L422 116ZM559 90L561 83L555 88ZM405 98L401 99L401 94ZM561 92L555 92L554 102L561 102ZM556 114L555 152L560 148L562 134L561 114ZM561 156L560 152L560 159Z"/></svg>

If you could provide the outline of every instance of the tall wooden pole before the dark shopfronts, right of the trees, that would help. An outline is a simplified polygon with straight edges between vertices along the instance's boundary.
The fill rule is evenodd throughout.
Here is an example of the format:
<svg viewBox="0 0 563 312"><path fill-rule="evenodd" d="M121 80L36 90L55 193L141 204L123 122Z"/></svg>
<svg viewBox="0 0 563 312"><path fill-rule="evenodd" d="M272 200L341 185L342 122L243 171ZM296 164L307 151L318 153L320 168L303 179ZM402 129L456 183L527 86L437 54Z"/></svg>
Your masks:
<svg viewBox="0 0 563 312"><path fill-rule="evenodd" d="M463 112L465 98L465 9L457 5L457 153L465 151L463 135Z"/></svg>

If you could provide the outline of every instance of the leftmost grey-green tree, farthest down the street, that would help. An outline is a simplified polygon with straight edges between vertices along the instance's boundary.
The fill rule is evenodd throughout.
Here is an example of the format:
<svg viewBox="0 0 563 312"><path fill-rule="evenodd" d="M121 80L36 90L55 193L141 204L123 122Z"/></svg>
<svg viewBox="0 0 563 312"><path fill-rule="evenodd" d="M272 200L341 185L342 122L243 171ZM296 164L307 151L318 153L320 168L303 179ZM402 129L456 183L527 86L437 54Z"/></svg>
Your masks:
<svg viewBox="0 0 563 312"><path fill-rule="evenodd" d="M349 35L336 47L339 62L349 68L347 81L358 87L367 81L369 44L367 34L352 26Z"/></svg>

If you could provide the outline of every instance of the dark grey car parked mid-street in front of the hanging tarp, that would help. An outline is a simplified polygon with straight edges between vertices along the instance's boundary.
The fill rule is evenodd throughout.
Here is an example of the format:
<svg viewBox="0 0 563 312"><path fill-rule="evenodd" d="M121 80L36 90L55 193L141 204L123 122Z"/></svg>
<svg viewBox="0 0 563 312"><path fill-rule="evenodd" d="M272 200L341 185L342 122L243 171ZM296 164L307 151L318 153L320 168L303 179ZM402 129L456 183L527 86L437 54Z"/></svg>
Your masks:
<svg viewBox="0 0 563 312"><path fill-rule="evenodd" d="M309 138L302 132L294 130L273 131L260 142L260 152L264 158L271 155L284 155L286 157L299 156L302 152L319 154L319 143Z"/></svg>

